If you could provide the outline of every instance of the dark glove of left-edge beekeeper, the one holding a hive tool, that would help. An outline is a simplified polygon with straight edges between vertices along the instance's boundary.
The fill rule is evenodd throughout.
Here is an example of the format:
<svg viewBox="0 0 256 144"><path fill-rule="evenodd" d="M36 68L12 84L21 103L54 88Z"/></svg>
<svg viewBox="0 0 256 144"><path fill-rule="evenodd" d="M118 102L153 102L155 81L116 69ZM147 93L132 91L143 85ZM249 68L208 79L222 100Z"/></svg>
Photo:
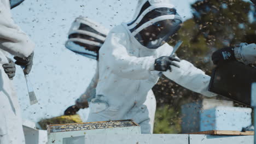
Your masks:
<svg viewBox="0 0 256 144"><path fill-rule="evenodd" d="M24 68L25 75L29 74L32 69L33 57L34 57L34 52L32 52L30 56L26 58L14 57L14 59L16 59L15 64L25 67Z"/></svg>

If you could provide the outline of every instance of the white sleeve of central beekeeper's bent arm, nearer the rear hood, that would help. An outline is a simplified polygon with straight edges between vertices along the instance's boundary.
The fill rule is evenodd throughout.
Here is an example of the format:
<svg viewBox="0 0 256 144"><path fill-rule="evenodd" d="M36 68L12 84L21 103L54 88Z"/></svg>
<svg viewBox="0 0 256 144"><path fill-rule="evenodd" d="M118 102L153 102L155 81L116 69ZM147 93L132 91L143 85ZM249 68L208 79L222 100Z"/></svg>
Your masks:
<svg viewBox="0 0 256 144"><path fill-rule="evenodd" d="M154 70L155 58L135 57L129 55L127 49L129 46L129 38L124 32L118 32L112 29L108 34L105 43L100 49L101 57L106 59L108 67L116 75L127 79L148 79L150 71Z"/></svg>

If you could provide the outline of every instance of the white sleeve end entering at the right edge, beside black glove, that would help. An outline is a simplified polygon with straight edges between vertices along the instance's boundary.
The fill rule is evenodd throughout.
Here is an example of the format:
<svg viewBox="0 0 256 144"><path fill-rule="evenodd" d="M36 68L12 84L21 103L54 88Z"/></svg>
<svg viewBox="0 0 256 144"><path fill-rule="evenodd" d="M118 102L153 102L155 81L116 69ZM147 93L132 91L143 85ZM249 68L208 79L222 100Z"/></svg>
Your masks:
<svg viewBox="0 0 256 144"><path fill-rule="evenodd" d="M241 43L240 46L235 47L234 52L237 61L244 64L256 63L256 44Z"/></svg>

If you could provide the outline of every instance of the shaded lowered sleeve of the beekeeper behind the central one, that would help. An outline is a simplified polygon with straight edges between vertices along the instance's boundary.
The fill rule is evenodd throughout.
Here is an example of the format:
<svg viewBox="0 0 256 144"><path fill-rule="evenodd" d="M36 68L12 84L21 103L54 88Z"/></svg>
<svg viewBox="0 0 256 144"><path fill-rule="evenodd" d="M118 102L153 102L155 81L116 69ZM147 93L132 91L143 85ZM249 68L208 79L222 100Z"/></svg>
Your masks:
<svg viewBox="0 0 256 144"><path fill-rule="evenodd" d="M97 68L96 68L96 73L94 77L92 78L89 86L86 88L85 92L75 101L75 104L79 107L84 107L84 103L89 101L90 99L95 97L96 94L96 87L98 83L98 63L97 63Z"/></svg>

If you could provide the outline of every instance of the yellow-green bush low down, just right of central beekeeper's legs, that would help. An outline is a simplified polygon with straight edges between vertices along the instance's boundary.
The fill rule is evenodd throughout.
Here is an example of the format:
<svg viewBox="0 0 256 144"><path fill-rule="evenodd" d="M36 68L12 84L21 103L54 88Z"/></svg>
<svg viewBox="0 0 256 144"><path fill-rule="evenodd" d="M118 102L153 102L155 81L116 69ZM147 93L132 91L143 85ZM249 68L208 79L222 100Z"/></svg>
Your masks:
<svg viewBox="0 0 256 144"><path fill-rule="evenodd" d="M154 134L178 134L181 133L181 118L179 111L168 105L156 110Z"/></svg>

